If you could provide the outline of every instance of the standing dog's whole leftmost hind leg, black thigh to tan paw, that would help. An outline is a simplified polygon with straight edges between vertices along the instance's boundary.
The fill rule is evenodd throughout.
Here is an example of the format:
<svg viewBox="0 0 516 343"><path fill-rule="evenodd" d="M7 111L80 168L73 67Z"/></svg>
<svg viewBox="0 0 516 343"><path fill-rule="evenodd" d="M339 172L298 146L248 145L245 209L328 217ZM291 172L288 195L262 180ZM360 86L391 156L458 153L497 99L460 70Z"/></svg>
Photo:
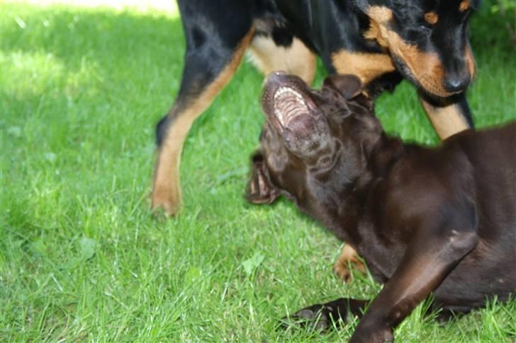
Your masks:
<svg viewBox="0 0 516 343"><path fill-rule="evenodd" d="M186 37L183 77L176 102L157 125L152 187L152 208L162 208L169 215L181 205L179 165L186 134L230 81L253 35L245 1L178 2Z"/></svg>

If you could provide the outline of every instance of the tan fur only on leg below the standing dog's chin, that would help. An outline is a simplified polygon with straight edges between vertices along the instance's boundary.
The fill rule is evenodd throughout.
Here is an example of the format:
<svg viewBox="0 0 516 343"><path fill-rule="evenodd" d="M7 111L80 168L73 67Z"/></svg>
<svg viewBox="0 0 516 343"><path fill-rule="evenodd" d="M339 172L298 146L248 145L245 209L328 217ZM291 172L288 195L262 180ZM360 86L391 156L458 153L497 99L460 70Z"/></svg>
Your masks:
<svg viewBox="0 0 516 343"><path fill-rule="evenodd" d="M421 103L440 139L447 139L449 136L469 129L468 123L461 115L459 105L436 107L422 99Z"/></svg>

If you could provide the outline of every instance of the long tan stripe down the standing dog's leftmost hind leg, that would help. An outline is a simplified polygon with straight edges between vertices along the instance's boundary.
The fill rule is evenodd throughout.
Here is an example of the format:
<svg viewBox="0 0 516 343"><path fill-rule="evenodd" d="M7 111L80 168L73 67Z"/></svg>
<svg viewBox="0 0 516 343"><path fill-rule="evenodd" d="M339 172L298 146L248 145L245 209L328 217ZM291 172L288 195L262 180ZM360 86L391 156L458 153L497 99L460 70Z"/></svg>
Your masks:
<svg viewBox="0 0 516 343"><path fill-rule="evenodd" d="M217 79L213 81L198 97L186 106L185 110L175 116L174 122L167 131L162 145L159 147L157 165L155 168L154 185L152 187L152 208L161 207L170 216L181 207L181 180L179 169L181 151L184 140L194 120L208 108L215 96L230 81L253 35L250 30L238 45L230 63L225 66ZM169 115L174 112L172 108Z"/></svg>

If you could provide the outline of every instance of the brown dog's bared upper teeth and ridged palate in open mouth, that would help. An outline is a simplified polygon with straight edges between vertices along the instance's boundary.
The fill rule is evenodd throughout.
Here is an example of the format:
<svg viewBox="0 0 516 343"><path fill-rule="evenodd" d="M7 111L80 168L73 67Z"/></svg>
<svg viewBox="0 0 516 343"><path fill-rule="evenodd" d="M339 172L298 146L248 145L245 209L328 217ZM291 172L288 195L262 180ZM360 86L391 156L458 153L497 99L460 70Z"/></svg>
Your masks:
<svg viewBox="0 0 516 343"><path fill-rule="evenodd" d="M278 118L283 127L293 117L306 112L306 104L303 96L290 87L280 87L274 93L274 115Z"/></svg>

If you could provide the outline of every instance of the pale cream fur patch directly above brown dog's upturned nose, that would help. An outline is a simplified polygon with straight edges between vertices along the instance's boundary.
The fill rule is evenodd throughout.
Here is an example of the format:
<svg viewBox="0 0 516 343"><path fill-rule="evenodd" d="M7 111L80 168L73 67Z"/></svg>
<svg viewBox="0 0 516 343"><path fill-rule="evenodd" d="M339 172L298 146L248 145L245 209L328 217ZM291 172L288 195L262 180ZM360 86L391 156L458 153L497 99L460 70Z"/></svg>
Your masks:
<svg viewBox="0 0 516 343"><path fill-rule="evenodd" d="M271 37L254 37L249 47L249 57L264 75L282 70L301 77L308 85L313 82L315 54L296 37L290 47L276 45Z"/></svg>

